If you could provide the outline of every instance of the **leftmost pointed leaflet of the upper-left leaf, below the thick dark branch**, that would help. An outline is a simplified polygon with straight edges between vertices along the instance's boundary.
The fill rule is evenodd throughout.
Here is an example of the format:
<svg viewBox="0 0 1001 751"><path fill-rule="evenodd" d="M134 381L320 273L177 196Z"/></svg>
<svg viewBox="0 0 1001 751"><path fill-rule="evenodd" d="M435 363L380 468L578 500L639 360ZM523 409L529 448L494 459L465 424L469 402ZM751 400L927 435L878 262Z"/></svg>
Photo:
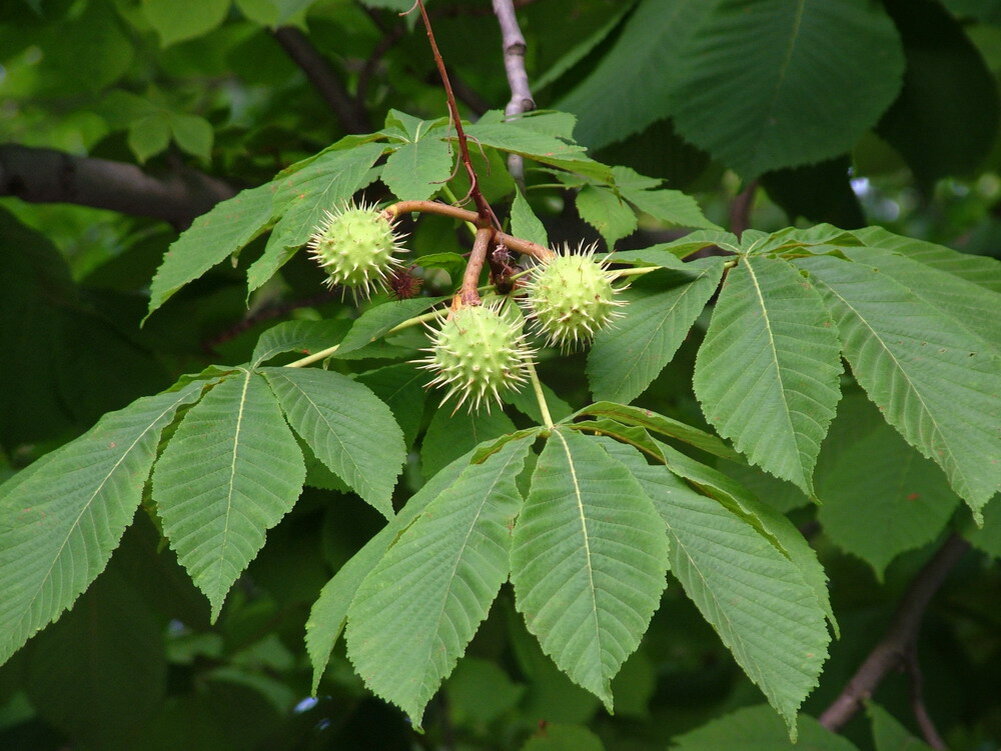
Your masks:
<svg viewBox="0 0 1001 751"><path fill-rule="evenodd" d="M267 226L274 185L243 190L202 214L174 240L156 270L149 293L149 313L167 298L239 250Z"/></svg>

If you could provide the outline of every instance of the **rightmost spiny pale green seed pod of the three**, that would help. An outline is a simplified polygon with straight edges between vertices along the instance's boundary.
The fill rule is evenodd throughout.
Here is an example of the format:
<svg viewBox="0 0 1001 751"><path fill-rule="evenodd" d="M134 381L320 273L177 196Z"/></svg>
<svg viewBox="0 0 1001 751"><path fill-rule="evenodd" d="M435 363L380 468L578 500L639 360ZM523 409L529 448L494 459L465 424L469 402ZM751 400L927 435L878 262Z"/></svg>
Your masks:
<svg viewBox="0 0 1001 751"><path fill-rule="evenodd" d="M595 259L595 246L580 253L569 248L540 263L526 284L526 317L547 343L562 349L586 344L595 332L619 317L612 286L615 274Z"/></svg>

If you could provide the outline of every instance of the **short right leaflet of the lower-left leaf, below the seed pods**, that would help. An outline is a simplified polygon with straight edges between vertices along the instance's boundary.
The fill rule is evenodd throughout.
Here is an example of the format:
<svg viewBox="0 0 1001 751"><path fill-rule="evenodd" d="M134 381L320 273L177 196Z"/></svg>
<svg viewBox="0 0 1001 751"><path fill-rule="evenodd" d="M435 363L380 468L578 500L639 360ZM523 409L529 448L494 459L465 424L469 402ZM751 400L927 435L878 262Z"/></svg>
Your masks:
<svg viewBox="0 0 1001 751"><path fill-rule="evenodd" d="M406 456L389 408L346 376L315 367L262 367L288 424L316 458L387 519Z"/></svg>

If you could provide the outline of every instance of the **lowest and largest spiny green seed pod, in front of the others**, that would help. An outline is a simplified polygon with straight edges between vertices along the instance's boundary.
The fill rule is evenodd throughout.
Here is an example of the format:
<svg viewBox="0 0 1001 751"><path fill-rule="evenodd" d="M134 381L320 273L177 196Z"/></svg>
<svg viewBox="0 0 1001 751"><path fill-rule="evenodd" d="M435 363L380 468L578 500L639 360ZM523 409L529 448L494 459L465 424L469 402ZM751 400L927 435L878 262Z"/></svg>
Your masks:
<svg viewBox="0 0 1001 751"><path fill-rule="evenodd" d="M535 352L522 331L521 316L498 307L469 305L452 311L438 328L429 327L429 356L417 360L436 373L427 386L447 387L442 403L458 397L455 410L468 403L469 411L500 402L506 391L525 384Z"/></svg>

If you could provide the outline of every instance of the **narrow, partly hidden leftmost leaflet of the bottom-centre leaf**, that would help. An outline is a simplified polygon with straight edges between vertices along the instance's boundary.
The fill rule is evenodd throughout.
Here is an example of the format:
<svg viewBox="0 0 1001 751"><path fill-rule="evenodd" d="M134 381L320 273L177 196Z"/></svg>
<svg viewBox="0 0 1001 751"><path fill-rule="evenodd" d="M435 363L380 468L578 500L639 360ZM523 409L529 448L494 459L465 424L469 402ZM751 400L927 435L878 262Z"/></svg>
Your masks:
<svg viewBox="0 0 1001 751"><path fill-rule="evenodd" d="M323 586L319 598L309 611L309 620L306 621L306 652L313 666L314 695L330 659L330 652L344 627L347 608L361 582L375 568L400 532L413 524L427 505L458 479L462 470L469 464L472 452L469 452L459 457L431 478L406 502L406 506L399 514L389 520L389 523L365 543L361 550L341 566L333 578Z"/></svg>

